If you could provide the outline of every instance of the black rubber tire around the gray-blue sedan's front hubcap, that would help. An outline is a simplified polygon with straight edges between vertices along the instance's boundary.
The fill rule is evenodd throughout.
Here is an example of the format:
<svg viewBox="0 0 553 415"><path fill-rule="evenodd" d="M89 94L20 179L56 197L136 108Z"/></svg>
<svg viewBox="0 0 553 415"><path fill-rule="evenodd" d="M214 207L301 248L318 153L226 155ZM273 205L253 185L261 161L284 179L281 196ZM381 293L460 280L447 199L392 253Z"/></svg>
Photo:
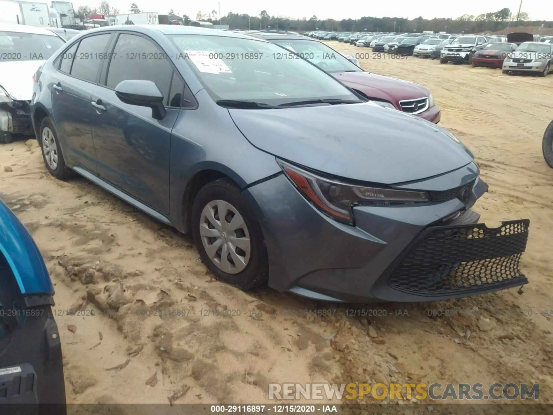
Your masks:
<svg viewBox="0 0 553 415"><path fill-rule="evenodd" d="M207 255L202 243L200 235L201 213L204 207L213 200L224 200L231 204L242 216L248 229L251 253L246 268L239 273L231 274L218 268ZM269 264L267 246L265 246L261 226L255 217L252 207L249 206L244 196L242 196L241 190L231 180L218 179L200 189L192 204L191 226L192 236L194 237L196 249L200 253L201 260L213 273L215 278L243 290L249 290L267 283Z"/></svg>

